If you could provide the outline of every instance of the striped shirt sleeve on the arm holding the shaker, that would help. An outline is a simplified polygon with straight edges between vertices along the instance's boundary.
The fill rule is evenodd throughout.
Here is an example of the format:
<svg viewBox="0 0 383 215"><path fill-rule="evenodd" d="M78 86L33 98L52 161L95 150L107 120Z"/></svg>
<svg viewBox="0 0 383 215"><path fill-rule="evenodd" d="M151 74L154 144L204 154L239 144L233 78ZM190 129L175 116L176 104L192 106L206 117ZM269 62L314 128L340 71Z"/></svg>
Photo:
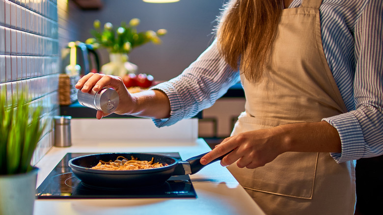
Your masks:
<svg viewBox="0 0 383 215"><path fill-rule="evenodd" d="M240 81L219 55L216 40L181 75L151 89L164 91L170 101L170 117L153 119L157 127L169 126L211 107L230 86Z"/></svg>

